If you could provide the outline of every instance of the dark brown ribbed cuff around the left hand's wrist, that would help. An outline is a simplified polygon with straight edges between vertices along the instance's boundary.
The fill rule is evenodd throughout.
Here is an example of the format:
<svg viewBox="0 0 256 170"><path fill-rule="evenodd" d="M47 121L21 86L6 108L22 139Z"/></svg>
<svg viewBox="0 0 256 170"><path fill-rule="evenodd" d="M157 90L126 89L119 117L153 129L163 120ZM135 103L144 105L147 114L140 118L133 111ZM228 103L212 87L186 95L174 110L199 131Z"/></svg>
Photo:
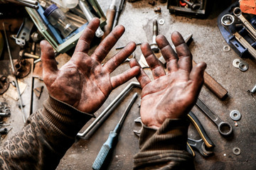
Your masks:
<svg viewBox="0 0 256 170"><path fill-rule="evenodd" d="M52 96L43 103L42 114L56 128L70 137L75 137L90 118L95 118L95 115L81 112Z"/></svg>

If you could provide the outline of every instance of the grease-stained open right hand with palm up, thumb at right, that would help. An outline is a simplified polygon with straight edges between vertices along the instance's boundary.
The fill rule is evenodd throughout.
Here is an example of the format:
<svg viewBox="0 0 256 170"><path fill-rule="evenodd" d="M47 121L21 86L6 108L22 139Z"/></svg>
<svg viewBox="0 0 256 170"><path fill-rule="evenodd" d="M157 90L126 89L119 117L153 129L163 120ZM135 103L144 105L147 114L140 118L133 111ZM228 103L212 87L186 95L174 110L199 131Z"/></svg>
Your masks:
<svg viewBox="0 0 256 170"><path fill-rule="evenodd" d="M151 68L154 80L151 81L141 69L137 75L142 86L141 117L144 125L160 128L166 118L184 118L196 103L203 85L203 72L206 63L201 62L192 69L192 55L186 42L178 32L171 35L176 52L164 35L158 35L156 42L166 60L167 74L156 59L148 43L142 44L142 53ZM130 67L139 66L136 60Z"/></svg>

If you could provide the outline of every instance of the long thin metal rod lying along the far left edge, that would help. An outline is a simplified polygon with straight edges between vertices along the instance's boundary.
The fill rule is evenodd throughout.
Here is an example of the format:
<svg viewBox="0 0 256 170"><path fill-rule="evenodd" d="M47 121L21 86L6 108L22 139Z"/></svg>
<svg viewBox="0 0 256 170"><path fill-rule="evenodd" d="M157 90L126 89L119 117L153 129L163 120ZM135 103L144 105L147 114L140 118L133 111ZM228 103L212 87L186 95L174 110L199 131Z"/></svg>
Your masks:
<svg viewBox="0 0 256 170"><path fill-rule="evenodd" d="M4 22L3 22L3 27L4 27L4 36L5 36L5 39L6 39L6 45L7 45L7 49L8 49L8 53L9 53L9 59L10 59L10 62L11 62L11 70L14 73L15 72L14 62L13 62L12 57L11 57L11 50L10 50L9 41L8 41L8 38L7 38ZM20 92L20 89L19 89L19 86L18 86L17 77L14 77L14 82L16 84L16 89L17 89L17 93L18 93L18 98L19 98L18 101L19 101L20 106L21 106L21 113L23 115L23 122L26 123L27 117L26 117L26 113L24 113L24 111L23 111L23 101L22 101L22 98L21 98L21 92Z"/></svg>

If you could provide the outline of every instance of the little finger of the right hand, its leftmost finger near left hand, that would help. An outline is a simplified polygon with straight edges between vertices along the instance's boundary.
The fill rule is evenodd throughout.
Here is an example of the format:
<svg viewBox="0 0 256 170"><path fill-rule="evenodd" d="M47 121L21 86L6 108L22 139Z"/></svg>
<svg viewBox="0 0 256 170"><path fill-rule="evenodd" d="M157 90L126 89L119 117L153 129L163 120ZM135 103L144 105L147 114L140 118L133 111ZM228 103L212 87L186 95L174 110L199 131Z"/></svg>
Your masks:
<svg viewBox="0 0 256 170"><path fill-rule="evenodd" d="M149 84L151 82L151 80L149 79L149 77L146 75L146 73L144 72L144 70L142 69L142 67L139 65L139 62L137 62L136 59L132 59L129 62L130 67L139 67L140 72L139 74L137 74L136 79L139 81L139 84L142 86L142 89L144 88L144 86L146 86L146 84Z"/></svg>

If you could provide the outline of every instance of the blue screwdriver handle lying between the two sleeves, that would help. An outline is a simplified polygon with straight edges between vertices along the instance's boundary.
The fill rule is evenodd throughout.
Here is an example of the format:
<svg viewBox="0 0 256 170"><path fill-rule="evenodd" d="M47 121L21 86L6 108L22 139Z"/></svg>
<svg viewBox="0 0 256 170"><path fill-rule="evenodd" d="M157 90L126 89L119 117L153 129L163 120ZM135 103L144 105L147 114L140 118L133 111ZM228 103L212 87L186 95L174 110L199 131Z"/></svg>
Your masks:
<svg viewBox="0 0 256 170"><path fill-rule="evenodd" d="M107 138L107 141L103 144L99 154L97 154L95 162L92 164L92 169L101 169L102 164L105 162L105 159L107 159L107 155L110 154L112 143L114 142L114 139L116 139L116 137L117 133L111 131L109 137Z"/></svg>

